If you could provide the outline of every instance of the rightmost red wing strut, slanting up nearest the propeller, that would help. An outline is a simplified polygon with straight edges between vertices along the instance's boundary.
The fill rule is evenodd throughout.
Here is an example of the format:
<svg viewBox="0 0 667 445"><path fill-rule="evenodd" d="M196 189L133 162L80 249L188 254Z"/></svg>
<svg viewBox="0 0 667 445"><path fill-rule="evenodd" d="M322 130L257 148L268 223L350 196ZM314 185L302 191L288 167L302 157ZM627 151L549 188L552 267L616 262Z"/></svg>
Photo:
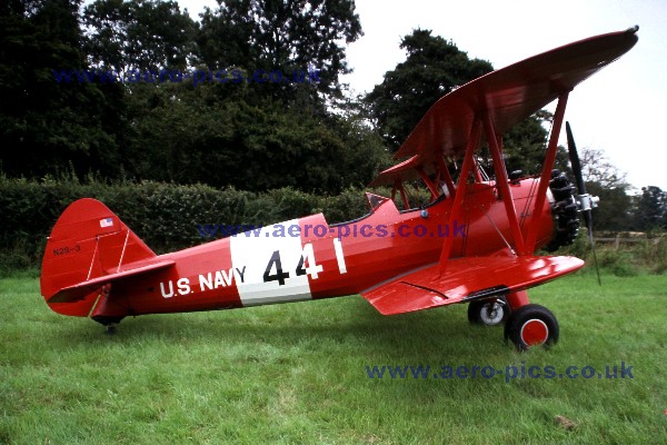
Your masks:
<svg viewBox="0 0 667 445"><path fill-rule="evenodd" d="M537 188L537 195L535 198L532 218L530 219L528 234L526 236L527 253L532 253L537 243L537 228L539 226L539 218L542 215L541 208L545 205L545 199L547 199L547 187L549 187L551 169L554 168L554 161L556 160L556 151L558 150L558 136L560 136L560 127L563 127L563 119L565 117L565 108L567 107L568 96L569 91L564 92L558 97L558 105L556 106L556 113L554 115L554 127L551 128L551 136L549 137L549 146L547 147L547 155L545 157L542 172L539 177L539 186Z"/></svg>

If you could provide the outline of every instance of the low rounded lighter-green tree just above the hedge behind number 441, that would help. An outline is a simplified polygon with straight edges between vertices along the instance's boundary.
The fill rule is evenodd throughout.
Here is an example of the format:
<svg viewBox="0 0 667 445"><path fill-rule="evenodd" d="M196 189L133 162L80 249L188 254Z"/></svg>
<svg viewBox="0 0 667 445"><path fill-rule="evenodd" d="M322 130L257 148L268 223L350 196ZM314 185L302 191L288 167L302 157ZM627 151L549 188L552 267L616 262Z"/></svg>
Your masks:
<svg viewBox="0 0 667 445"><path fill-rule="evenodd" d="M218 181L247 190L291 186L337 194L367 184L382 165L384 147L370 129L266 100L261 107L235 103L231 138L209 157L211 167L219 166Z"/></svg>

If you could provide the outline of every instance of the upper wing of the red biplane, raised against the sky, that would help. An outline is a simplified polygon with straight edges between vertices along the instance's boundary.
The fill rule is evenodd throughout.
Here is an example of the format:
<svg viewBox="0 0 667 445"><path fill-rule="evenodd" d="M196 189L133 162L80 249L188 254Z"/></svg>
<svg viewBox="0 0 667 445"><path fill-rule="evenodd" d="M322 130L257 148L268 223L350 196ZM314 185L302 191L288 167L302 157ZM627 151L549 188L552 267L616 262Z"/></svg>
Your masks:
<svg viewBox="0 0 667 445"><path fill-rule="evenodd" d="M637 28L591 37L489 72L440 98L421 118L395 158L407 162L382 171L371 186L415 179L415 167L430 166L438 155L465 151L475 116L487 113L505 134L559 95L630 50Z"/></svg>

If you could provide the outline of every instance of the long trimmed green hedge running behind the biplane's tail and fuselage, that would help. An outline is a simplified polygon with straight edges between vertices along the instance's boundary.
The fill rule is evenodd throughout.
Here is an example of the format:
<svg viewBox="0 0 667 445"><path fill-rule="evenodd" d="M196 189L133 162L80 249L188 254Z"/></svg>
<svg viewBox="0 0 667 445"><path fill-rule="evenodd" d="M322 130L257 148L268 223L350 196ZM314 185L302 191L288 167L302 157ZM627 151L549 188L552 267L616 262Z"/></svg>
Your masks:
<svg viewBox="0 0 667 445"><path fill-rule="evenodd" d="M207 224L268 225L316 212L338 222L368 212L362 190L354 188L317 196L289 187L257 194L205 185L0 176L0 274L39 267L53 224L83 197L104 202L158 254L210 241L199 230Z"/></svg>

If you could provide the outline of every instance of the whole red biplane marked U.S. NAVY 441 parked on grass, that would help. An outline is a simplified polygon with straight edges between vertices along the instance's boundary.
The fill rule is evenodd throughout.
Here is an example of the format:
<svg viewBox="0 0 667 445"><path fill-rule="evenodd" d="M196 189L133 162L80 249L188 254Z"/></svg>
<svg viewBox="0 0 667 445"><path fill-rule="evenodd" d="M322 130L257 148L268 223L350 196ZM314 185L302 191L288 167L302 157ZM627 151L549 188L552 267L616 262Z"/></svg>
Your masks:
<svg viewBox="0 0 667 445"><path fill-rule="evenodd" d="M472 323L505 322L517 348L549 345L558 323L529 304L526 289L584 261L535 253L571 243L578 212L589 224L596 204L584 189L573 140L578 187L552 170L567 98L633 48L636 31L554 49L442 97L396 154L405 160L371 182L392 187L391 198L367 194L370 212L354 221L329 225L312 215L158 256L103 204L80 199L49 237L41 294L52 310L91 317L109 332L127 316L350 294L385 315L467 303ZM554 100L541 174L508 175L501 136ZM484 141L492 179L476 155ZM426 185L430 204L410 206L405 184L414 180Z"/></svg>

